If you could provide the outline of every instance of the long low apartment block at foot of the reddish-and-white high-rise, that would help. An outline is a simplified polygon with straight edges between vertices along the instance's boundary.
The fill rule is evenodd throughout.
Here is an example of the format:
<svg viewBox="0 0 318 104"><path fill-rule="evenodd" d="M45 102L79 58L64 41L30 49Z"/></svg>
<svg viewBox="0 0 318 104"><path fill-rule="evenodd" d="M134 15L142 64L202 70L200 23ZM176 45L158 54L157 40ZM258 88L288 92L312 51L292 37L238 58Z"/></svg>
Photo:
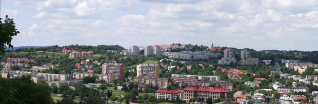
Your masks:
<svg viewBox="0 0 318 104"><path fill-rule="evenodd" d="M99 79L99 80L104 79L106 82L109 82L109 83L111 83L111 81L112 81L113 78L114 78L114 75L92 74L92 73L73 73L73 78L82 79L82 78L85 77L85 76L93 76L93 75L98 76L98 79Z"/></svg>

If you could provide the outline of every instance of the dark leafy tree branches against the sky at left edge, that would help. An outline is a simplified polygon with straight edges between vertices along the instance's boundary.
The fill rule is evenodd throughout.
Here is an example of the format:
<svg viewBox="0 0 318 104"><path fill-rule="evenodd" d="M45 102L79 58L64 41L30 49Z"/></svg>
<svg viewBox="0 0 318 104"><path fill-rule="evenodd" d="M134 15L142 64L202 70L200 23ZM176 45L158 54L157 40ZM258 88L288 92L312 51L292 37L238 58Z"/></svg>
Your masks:
<svg viewBox="0 0 318 104"><path fill-rule="evenodd" d="M13 39L12 36L16 36L19 31L15 29L15 23L13 22L13 18L8 18L8 15L6 15L5 23L2 23L2 18L0 18L0 59L5 55L6 53L6 45L8 45L9 48L13 48L11 45L11 40Z"/></svg>

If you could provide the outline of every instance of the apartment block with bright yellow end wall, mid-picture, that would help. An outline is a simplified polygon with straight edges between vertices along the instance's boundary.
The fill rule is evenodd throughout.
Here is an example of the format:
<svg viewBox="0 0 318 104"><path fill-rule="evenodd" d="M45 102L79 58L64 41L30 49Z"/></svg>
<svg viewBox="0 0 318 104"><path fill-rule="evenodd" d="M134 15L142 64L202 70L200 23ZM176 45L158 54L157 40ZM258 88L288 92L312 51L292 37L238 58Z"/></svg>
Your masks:
<svg viewBox="0 0 318 104"><path fill-rule="evenodd" d="M158 78L160 66L158 64L139 64L136 70L138 77Z"/></svg>

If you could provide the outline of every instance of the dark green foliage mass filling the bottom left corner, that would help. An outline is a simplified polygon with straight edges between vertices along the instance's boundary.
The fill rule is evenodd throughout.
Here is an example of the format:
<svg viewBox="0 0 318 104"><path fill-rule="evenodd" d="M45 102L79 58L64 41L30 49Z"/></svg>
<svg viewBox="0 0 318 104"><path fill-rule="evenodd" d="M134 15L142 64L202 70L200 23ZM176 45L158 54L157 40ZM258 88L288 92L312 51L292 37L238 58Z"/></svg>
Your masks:
<svg viewBox="0 0 318 104"><path fill-rule="evenodd" d="M4 103L54 103L45 88L35 84L30 75L20 78L0 79L1 102ZM9 87L9 88L7 88ZM12 93L13 92L13 93ZM10 99L10 100L9 100Z"/></svg>

